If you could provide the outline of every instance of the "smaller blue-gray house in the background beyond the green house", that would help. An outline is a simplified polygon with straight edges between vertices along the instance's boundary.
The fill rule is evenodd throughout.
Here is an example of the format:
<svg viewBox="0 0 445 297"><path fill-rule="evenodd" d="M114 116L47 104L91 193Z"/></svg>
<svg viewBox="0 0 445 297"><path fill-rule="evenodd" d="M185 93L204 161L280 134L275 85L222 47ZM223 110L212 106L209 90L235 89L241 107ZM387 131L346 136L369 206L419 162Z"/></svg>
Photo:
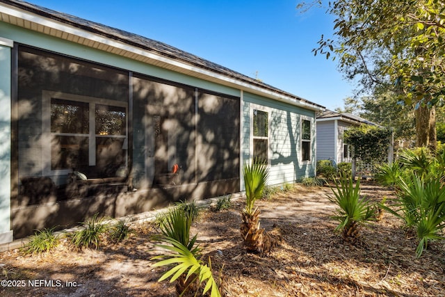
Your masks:
<svg viewBox="0 0 445 297"><path fill-rule="evenodd" d="M353 161L350 146L343 142L343 134L349 127L364 124L376 125L350 113L337 113L330 110L319 113L316 117L317 161L328 159L335 163Z"/></svg>

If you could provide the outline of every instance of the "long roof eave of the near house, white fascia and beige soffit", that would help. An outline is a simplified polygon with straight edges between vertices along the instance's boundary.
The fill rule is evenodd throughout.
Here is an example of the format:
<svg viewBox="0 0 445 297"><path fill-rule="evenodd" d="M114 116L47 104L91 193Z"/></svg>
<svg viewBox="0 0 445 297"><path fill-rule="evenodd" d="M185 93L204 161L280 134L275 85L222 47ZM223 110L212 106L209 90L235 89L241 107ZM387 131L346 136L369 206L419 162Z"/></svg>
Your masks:
<svg viewBox="0 0 445 297"><path fill-rule="evenodd" d="M309 102L284 91L281 93L275 88L266 88L266 86L261 84L254 84L237 77L220 74L216 71L209 70L206 67L198 67L197 65L181 61L178 58L172 58L171 56L156 53L151 49L144 49L138 45L123 42L122 40L113 38L109 35L104 35L104 33L99 33L91 28L86 30L85 28L74 26L74 24L66 24L61 20L39 15L38 10L36 9L29 11L24 8L17 8L17 6L7 5L3 2L0 2L0 8L1 22L20 26L24 29L37 31L70 42L76 42L81 45L107 51L112 54L131 58L164 69L180 72L191 77L212 81L245 92L269 97L280 102L286 102L312 111L325 110L324 106Z"/></svg>

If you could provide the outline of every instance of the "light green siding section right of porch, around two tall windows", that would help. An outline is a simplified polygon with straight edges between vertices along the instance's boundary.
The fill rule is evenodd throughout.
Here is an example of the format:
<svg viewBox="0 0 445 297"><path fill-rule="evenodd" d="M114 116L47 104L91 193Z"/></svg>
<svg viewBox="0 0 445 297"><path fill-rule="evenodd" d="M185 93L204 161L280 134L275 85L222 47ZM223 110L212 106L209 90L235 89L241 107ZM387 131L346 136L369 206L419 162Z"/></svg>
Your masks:
<svg viewBox="0 0 445 297"><path fill-rule="evenodd" d="M250 141L250 118L252 106L270 113L269 118L269 164L270 176L268 184L282 184L294 182L301 177L315 175L315 113L282 102L244 93L243 95L243 131L242 153L243 160L252 158ZM301 161L301 120L311 122L311 161Z"/></svg>

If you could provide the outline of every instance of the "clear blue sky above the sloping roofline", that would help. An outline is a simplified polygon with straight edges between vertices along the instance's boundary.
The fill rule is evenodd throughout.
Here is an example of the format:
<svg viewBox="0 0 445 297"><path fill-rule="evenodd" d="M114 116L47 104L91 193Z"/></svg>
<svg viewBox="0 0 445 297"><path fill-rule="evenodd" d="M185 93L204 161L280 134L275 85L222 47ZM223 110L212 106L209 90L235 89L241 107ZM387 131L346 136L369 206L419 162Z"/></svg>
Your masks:
<svg viewBox="0 0 445 297"><path fill-rule="evenodd" d="M165 42L328 109L353 95L336 62L312 53L332 34L332 17L301 14L299 1L28 1Z"/></svg>

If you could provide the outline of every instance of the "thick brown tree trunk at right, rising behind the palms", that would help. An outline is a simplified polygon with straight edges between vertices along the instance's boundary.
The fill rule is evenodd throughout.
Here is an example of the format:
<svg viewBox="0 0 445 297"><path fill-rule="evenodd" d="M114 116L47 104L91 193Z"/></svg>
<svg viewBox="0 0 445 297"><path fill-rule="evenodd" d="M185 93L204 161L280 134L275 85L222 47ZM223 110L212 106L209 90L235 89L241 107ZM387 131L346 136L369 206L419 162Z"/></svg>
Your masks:
<svg viewBox="0 0 445 297"><path fill-rule="evenodd" d="M434 106L419 106L414 111L416 118L416 147L428 147L436 151L436 111Z"/></svg>

